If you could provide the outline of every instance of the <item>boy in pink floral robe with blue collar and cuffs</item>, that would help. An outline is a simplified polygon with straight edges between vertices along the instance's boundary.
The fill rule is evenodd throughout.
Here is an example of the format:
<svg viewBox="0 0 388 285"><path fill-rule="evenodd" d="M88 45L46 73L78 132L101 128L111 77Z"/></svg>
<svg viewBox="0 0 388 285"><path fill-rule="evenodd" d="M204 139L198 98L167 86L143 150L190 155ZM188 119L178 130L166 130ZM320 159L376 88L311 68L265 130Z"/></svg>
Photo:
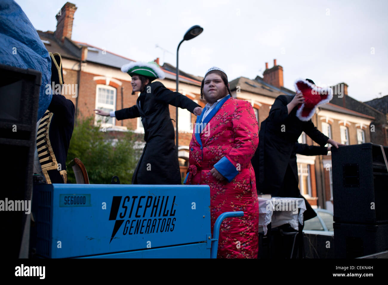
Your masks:
<svg viewBox="0 0 388 285"><path fill-rule="evenodd" d="M190 143L184 184L210 186L211 233L223 212L244 211L220 227L217 257L256 258L258 200L251 158L258 146L258 123L249 102L230 97L227 75L212 67L201 86L208 102Z"/></svg>

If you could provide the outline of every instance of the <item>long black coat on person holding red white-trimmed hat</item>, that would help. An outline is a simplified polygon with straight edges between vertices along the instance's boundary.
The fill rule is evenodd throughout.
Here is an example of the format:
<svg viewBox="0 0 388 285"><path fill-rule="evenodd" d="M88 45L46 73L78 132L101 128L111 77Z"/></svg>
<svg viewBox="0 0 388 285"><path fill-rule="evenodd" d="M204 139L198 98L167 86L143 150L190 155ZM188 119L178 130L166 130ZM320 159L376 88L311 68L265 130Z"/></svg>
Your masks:
<svg viewBox="0 0 388 285"><path fill-rule="evenodd" d="M290 95L277 97L267 119L261 124L259 146L252 158L258 193L279 196L286 170L292 163L291 158L295 143L302 131L322 147L329 139L317 130L311 120L301 121L298 119L296 117L297 107L288 114L287 104L292 99L293 96Z"/></svg>

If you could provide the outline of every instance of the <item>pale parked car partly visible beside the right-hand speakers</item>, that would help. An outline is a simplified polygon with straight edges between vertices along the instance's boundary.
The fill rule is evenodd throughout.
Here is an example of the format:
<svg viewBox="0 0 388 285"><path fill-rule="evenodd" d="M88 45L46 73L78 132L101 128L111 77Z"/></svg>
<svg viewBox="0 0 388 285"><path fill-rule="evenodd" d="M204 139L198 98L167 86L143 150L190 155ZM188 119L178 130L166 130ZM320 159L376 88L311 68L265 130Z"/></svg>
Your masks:
<svg viewBox="0 0 388 285"><path fill-rule="evenodd" d="M305 221L303 233L334 236L333 212L324 209L314 209L314 211L317 216Z"/></svg>

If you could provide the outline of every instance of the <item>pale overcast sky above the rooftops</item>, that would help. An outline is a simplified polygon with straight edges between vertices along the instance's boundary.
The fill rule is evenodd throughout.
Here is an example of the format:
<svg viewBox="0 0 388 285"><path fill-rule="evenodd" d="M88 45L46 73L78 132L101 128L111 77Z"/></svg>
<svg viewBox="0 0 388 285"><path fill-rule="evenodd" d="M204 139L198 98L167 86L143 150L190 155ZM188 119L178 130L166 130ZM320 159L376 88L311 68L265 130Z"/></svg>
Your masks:
<svg viewBox="0 0 388 285"><path fill-rule="evenodd" d="M55 31L66 0L16 0L36 29ZM201 35L179 49L181 70L211 66L229 81L262 76L265 62L283 67L284 86L297 78L317 85L345 82L367 101L388 94L388 1L119 1L74 0L72 40L133 60L176 66L178 43L191 26ZM166 50L163 52L161 48Z"/></svg>

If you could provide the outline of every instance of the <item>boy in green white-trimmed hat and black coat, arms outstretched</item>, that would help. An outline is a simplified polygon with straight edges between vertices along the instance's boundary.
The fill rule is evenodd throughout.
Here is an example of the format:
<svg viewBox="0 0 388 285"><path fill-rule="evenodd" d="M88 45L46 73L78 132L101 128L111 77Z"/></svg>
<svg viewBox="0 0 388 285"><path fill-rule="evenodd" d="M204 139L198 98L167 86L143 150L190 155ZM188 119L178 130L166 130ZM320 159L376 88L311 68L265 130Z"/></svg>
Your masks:
<svg viewBox="0 0 388 285"><path fill-rule="evenodd" d="M202 108L178 92L167 89L155 79L164 79L165 74L156 62L132 62L121 67L132 77L132 95L140 92L136 105L110 113L96 109L101 116L118 120L142 118L145 147L132 176L132 184L182 184L175 132L168 106L187 109L199 116Z"/></svg>

